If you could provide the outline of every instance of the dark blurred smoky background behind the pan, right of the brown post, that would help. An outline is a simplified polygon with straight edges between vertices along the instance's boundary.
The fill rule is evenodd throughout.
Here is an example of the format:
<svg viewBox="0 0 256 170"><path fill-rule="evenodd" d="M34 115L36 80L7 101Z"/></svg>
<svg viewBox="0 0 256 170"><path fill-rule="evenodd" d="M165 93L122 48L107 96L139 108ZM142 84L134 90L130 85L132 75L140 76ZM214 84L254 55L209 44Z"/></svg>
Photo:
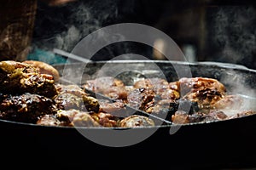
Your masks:
<svg viewBox="0 0 256 170"><path fill-rule="evenodd" d="M255 4L248 0L77 0L49 6L38 1L32 47L72 52L90 32L132 22L165 32L191 62L228 62L256 69ZM166 59L139 42L113 43L92 59L107 60L128 53Z"/></svg>

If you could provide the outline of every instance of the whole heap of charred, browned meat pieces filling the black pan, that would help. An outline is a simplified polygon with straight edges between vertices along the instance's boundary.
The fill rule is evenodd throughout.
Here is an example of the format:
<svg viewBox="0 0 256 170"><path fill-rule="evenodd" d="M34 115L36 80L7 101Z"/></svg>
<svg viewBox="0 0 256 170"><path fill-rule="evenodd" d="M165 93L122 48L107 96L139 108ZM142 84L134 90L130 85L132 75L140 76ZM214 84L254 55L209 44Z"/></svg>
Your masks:
<svg viewBox="0 0 256 170"><path fill-rule="evenodd" d="M243 100L227 94L224 84L213 78L183 77L176 82L143 78L128 88L115 77L97 77L81 86L64 85L56 82L59 74L53 67L39 64L0 62L1 119L42 126L148 127L155 126L157 117L186 124L256 113L239 110ZM97 99L96 93L108 98ZM236 114L226 114L230 109Z"/></svg>

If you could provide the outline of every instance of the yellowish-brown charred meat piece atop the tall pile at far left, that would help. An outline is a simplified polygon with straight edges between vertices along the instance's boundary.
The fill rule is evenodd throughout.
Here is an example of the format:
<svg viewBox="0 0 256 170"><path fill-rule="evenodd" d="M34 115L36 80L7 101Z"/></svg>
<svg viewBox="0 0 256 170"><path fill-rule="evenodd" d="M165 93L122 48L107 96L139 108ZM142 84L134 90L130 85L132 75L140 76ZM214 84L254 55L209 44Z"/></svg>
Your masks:
<svg viewBox="0 0 256 170"><path fill-rule="evenodd" d="M0 62L0 92L3 94L40 94L52 98L57 94L54 78L38 69L16 61Z"/></svg>

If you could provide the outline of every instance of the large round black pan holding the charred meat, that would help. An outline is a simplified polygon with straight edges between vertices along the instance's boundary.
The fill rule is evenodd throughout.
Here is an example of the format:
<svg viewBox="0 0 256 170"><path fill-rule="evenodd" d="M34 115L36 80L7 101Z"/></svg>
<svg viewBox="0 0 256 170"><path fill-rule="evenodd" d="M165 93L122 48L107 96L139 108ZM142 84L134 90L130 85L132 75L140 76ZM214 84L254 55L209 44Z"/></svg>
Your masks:
<svg viewBox="0 0 256 170"><path fill-rule="evenodd" d="M189 68L192 77L216 78L224 83L229 92L246 96L247 102L255 103L256 71L242 65L113 60L54 66L61 76L75 83L99 77L103 75L101 70L105 69L103 72L106 73L106 69L111 68L129 68L116 74L127 82L142 75L161 75L167 81L175 81ZM177 73L177 68L185 73ZM44 127L1 120L0 129L2 155L6 160L20 162L19 166L23 164L25 167L30 162L36 162L41 167L49 167L50 164L51 167L84 168L137 165L156 168L256 167L256 115L220 122L129 129ZM137 141L131 140L136 138ZM117 142L113 143L113 140ZM25 153L28 156L24 156Z"/></svg>

